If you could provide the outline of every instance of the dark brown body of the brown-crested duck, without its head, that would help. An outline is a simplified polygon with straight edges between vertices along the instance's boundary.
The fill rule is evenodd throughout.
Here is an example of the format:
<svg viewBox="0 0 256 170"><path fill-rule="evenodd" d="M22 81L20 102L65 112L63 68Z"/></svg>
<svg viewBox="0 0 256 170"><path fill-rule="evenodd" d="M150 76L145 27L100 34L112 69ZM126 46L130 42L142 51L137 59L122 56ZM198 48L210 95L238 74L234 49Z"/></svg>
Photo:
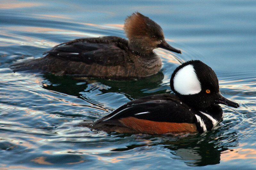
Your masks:
<svg viewBox="0 0 256 170"><path fill-rule="evenodd" d="M60 44L47 53L43 58L22 65L17 63L15 70L33 67L59 76L118 78L150 76L161 69L158 55L153 52L141 55L131 51L126 39L115 36L76 39Z"/></svg>

